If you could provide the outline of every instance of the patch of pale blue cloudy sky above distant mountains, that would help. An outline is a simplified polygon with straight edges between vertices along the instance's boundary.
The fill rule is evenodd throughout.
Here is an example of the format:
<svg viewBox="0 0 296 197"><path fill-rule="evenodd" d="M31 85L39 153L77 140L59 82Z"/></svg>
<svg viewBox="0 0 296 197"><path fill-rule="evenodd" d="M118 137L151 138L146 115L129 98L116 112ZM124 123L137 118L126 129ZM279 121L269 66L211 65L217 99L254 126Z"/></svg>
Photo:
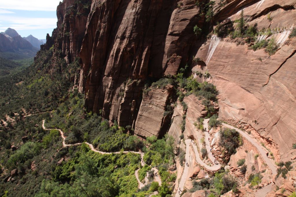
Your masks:
<svg viewBox="0 0 296 197"><path fill-rule="evenodd" d="M45 39L57 27L57 6L62 0L0 0L0 32L15 29L22 37Z"/></svg>

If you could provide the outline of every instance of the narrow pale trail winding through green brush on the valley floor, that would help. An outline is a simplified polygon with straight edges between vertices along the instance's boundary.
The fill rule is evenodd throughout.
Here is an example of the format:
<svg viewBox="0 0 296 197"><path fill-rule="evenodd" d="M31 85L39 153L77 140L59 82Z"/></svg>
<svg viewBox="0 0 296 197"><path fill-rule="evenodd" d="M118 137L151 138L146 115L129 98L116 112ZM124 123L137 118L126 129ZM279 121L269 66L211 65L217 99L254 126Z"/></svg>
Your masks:
<svg viewBox="0 0 296 197"><path fill-rule="evenodd" d="M33 114L32 114L32 115L33 115ZM135 153L135 154L140 154L140 155L141 155L141 166L144 166L144 165L145 165L144 160L143 160L143 157L144 157L144 153L143 153L143 152L136 152L136 151L102 152L102 151L98 151L98 150L96 150L96 149L94 148L94 146L93 146L92 144L88 143L88 142L76 143L76 144L66 144L66 143L65 143L65 139L66 139L66 137L64 136L64 133L63 133L63 131L62 131L61 129L58 129L58 128L45 128L44 123L45 123L45 120L42 121L42 128L43 128L44 130L53 130L53 129L55 129L55 130L58 130L58 131L59 131L59 133L61 134L61 137L62 137L62 139L63 139L63 147L67 147L67 146L77 146L77 145L80 145L80 144L85 143L85 144L89 145L89 147L91 148L92 151L97 152L97 153L100 153L100 154L120 154L120 153L125 153L125 154L127 154L127 153ZM138 183L139 183L139 188L141 189L141 188L143 188L145 185L148 184L148 178L147 178L147 180L145 181L146 183L143 184L143 183L139 180L139 175L138 175L139 170L140 170L140 169L136 170L136 172L135 172L135 176L136 176L136 179L137 179L137 181L138 181ZM158 184L161 185L161 180L160 180L160 176L159 176L159 174L158 174L158 170L157 170L156 168L154 168L154 167L152 168L152 170L154 170L154 173L156 173L156 175L155 175L155 177L154 177L154 181L157 181Z"/></svg>

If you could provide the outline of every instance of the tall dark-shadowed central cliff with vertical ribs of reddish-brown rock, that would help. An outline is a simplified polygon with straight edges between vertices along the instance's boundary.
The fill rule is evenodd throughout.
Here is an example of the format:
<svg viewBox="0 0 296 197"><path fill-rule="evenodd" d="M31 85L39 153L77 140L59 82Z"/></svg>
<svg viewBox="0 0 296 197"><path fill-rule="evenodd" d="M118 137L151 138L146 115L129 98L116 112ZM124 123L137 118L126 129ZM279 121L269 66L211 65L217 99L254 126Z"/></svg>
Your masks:
<svg viewBox="0 0 296 197"><path fill-rule="evenodd" d="M104 118L119 125L135 121L127 113L132 100L139 109L144 80L176 74L188 60L198 23L194 3L183 1L178 8L171 0L93 1L80 52L79 91L86 94L86 108L102 109ZM127 79L133 82L125 85Z"/></svg>

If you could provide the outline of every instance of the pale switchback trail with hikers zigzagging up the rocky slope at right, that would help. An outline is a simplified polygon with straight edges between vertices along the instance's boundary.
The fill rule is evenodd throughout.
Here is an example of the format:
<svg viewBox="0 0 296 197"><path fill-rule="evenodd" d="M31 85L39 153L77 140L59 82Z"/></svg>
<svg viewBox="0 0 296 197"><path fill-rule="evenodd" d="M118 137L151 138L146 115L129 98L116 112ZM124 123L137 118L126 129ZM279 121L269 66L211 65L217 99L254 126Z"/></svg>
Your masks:
<svg viewBox="0 0 296 197"><path fill-rule="evenodd" d="M209 131L208 128L208 121L209 119L205 119L203 122L203 126L204 128L206 128L207 131ZM255 139L253 139L251 136L249 136L247 133L245 133L244 131L235 128L229 124L225 124L223 123L223 126L226 126L228 128L231 129L235 129L237 132L239 132L243 137L245 137L248 141L250 141L259 151L259 153L261 154L262 158L264 159L264 161L266 162L266 164L268 165L268 167L271 169L272 172L272 176L274 177L276 175L276 166L273 164L273 162L271 162L271 160L266 156L266 151L263 150L263 148L261 147L261 145L259 144L258 141L256 141ZM220 164L215 164L215 157L213 157L213 155L210 152L211 146L210 146L210 141L208 141L208 139L210 138L210 134L205 131L205 144L206 144L206 149L207 149L207 153L208 153L208 157L210 158L210 160L213 162L213 166L209 166L207 164L205 164L201 159L200 159L200 154L198 152L197 146L192 142L191 139L186 139L185 140L185 144L186 144L186 152L185 152L185 159L186 162L189 164L189 166L193 165L194 163L191 161L191 158L189 157L189 152L190 152L190 146L193 147L194 153L195 153L195 159L196 162L204 167L207 170L210 171L218 171L221 168ZM185 165L184 166L184 171L183 174L181 176L180 179L180 183L179 183L179 188L178 188L178 192L176 193L176 197L180 197L181 193L184 189L185 183L186 183L186 178L188 176L188 170L189 170L189 166ZM268 192L270 192L272 190L273 184L269 184L261 189L259 189L256 193L255 193L255 197L263 197L266 196L266 194Z"/></svg>

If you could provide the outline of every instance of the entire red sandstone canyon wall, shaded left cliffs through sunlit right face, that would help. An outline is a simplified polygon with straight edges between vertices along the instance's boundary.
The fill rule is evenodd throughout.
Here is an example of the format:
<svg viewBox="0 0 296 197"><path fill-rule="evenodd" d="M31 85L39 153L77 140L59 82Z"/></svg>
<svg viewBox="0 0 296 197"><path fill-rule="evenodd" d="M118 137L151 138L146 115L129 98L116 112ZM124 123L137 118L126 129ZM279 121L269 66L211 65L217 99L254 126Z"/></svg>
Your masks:
<svg viewBox="0 0 296 197"><path fill-rule="evenodd" d="M270 37L260 35L274 37L280 45L269 56L264 49L252 51L230 38L213 35L206 40L194 35L194 26L203 28L205 19L193 0L64 0L57 8L54 53L67 63L79 58L78 88L85 94L87 110L120 126L131 125L142 137L162 132L165 105L170 104L168 90L145 96L144 85L174 75L186 64L193 71L208 71L207 81L219 91L219 117L252 131L274 154L284 155L296 134L296 40L288 38L295 4L295 0L215 2L214 24L235 21L244 9L249 25L271 28ZM192 56L202 61L197 64ZM153 131L147 117L155 123Z"/></svg>

